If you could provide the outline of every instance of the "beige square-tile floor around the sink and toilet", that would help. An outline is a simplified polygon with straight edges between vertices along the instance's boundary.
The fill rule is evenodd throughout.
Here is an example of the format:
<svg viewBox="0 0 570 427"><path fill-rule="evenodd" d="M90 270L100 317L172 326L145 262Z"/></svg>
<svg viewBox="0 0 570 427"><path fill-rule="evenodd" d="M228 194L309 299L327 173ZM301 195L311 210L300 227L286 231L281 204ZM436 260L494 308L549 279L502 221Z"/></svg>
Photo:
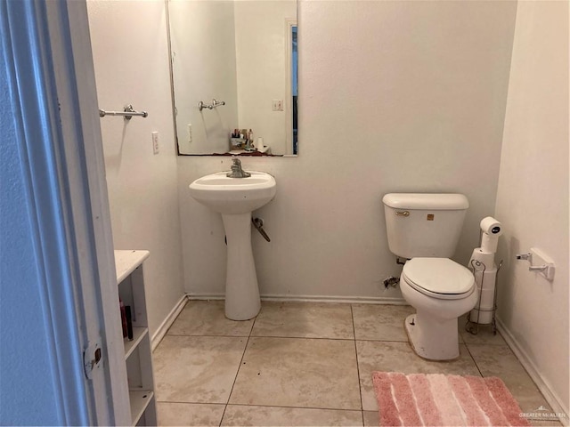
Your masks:
<svg viewBox="0 0 570 427"><path fill-rule="evenodd" d="M153 353L160 425L378 425L373 371L499 376L525 412L549 407L488 328L460 321L460 358L416 356L409 306L262 302L252 320L224 302L191 301ZM560 425L533 422L534 425Z"/></svg>

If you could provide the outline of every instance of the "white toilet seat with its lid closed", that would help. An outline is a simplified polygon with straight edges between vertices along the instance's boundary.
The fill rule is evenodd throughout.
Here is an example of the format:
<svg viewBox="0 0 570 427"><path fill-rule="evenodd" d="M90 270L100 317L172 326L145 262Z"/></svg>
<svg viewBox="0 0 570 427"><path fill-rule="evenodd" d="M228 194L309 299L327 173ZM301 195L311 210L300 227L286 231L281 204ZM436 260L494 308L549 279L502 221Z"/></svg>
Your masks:
<svg viewBox="0 0 570 427"><path fill-rule="evenodd" d="M471 271L449 258L412 258L402 277L418 292L440 300L459 300L475 290Z"/></svg>

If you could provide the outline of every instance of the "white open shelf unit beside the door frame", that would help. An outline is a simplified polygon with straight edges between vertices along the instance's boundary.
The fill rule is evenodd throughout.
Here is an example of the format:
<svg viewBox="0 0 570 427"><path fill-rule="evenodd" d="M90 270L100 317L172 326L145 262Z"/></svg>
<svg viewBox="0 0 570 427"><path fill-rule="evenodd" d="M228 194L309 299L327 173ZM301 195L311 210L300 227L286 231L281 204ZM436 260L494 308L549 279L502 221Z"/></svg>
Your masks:
<svg viewBox="0 0 570 427"><path fill-rule="evenodd" d="M115 251L118 295L131 307L133 340L124 339L132 425L157 425L151 337L144 295L142 262L149 251Z"/></svg>

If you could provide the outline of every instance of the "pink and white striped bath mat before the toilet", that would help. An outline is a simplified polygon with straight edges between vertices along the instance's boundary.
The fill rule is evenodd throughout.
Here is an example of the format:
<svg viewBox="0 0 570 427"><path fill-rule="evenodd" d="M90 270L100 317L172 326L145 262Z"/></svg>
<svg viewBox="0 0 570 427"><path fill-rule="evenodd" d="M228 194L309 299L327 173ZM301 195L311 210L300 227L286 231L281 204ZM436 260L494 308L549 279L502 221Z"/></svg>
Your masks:
<svg viewBox="0 0 570 427"><path fill-rule="evenodd" d="M380 426L531 425L497 377L374 372Z"/></svg>

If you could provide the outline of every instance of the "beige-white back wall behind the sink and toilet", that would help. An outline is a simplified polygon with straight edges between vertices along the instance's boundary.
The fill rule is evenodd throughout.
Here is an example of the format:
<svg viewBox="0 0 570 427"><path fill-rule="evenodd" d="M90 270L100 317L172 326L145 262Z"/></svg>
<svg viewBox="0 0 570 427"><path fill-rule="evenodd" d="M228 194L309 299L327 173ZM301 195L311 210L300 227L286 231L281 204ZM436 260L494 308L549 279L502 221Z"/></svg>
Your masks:
<svg viewBox="0 0 570 427"><path fill-rule="evenodd" d="M244 158L272 173L273 202L253 236L261 294L401 298L381 281L401 266L387 248L381 197L460 191L471 203L456 259L494 213L516 3L301 2L299 157ZM228 170L178 157L185 289L224 294L224 228L188 184Z"/></svg>

